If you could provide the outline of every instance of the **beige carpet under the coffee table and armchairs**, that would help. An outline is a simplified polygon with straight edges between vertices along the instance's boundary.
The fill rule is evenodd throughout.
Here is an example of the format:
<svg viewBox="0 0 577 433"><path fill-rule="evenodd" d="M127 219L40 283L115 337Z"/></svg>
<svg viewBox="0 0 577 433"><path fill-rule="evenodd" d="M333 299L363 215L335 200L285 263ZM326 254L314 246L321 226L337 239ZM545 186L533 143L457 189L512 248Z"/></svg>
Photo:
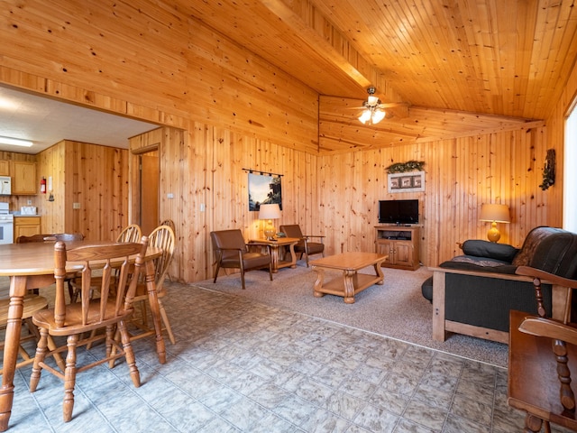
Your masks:
<svg viewBox="0 0 577 433"><path fill-rule="evenodd" d="M382 336L423 345L452 355L471 358L487 364L507 367L508 346L472 336L451 335L443 343L432 339L432 305L421 295L421 283L431 272L400 271L383 268L385 282L359 293L354 304L343 298L313 296L316 272L298 262L296 269L281 269L269 280L269 273L246 273L246 290L241 287L238 273L221 276L216 283L200 281L195 285L217 290L277 307L324 318L349 327L356 327ZM333 274L327 272L325 281ZM334 274L340 276L340 273Z"/></svg>

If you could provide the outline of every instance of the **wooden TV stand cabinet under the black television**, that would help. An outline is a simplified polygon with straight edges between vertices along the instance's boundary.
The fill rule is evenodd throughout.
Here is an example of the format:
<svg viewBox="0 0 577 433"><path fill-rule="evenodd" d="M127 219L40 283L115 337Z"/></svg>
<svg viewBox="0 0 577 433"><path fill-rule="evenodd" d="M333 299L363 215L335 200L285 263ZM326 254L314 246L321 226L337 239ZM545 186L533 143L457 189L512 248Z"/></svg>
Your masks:
<svg viewBox="0 0 577 433"><path fill-rule="evenodd" d="M419 227L415 226L375 226L375 251L389 255L381 266L418 269L418 232Z"/></svg>

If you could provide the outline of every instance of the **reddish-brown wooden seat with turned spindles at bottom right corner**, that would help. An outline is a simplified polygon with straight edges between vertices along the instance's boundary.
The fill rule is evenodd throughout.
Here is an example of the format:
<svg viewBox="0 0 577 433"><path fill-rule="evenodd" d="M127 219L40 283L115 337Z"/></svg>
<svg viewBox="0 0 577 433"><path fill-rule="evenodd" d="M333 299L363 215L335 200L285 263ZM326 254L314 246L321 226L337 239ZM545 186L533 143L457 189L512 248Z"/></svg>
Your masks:
<svg viewBox="0 0 577 433"><path fill-rule="evenodd" d="M551 431L553 422L577 431L571 372L577 372L577 327L571 323L572 290L577 281L521 266L517 273L534 278L539 316L511 310L508 405L527 412L526 432ZM541 281L562 290L559 317L545 318Z"/></svg>

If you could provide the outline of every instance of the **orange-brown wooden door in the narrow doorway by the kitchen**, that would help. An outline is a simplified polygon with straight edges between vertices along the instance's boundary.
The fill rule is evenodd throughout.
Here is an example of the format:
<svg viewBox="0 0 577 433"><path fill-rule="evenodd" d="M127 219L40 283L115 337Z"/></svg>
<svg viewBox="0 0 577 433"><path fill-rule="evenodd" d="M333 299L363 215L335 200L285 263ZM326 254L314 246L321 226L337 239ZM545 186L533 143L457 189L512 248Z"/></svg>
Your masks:
<svg viewBox="0 0 577 433"><path fill-rule="evenodd" d="M140 226L148 235L159 225L159 152L154 150L139 156Z"/></svg>

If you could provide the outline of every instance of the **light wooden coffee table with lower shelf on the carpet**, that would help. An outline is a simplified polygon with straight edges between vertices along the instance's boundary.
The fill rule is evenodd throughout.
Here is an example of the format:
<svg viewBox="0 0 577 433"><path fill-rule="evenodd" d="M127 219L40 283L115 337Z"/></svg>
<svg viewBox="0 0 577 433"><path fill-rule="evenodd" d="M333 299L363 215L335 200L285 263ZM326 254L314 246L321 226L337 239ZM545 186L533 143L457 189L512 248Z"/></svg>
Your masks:
<svg viewBox="0 0 577 433"><path fill-rule="evenodd" d="M321 298L325 294L342 296L347 304L354 303L354 295L373 284L382 284L384 275L380 263L387 260L387 254L379 253L341 253L324 257L311 262L311 266L318 274L315 281L315 297ZM367 266L373 266L374 275L358 273ZM325 281L325 269L343 271L342 278Z"/></svg>

